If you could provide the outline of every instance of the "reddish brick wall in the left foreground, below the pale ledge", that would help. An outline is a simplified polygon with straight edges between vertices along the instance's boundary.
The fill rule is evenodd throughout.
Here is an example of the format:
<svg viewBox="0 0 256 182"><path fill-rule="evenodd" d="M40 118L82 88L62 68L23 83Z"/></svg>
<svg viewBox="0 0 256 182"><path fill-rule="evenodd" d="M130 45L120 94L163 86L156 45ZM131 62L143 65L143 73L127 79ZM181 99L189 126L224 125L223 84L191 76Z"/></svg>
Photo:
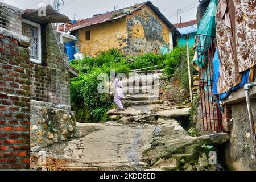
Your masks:
<svg viewBox="0 0 256 182"><path fill-rule="evenodd" d="M0 169L30 168L28 46L0 34Z"/></svg>

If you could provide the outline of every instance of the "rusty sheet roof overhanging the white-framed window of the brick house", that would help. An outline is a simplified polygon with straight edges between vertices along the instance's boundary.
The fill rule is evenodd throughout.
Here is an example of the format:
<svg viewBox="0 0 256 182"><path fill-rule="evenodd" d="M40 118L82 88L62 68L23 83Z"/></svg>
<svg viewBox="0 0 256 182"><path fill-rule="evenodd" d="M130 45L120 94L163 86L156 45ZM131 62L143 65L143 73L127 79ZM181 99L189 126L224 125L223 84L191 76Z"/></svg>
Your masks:
<svg viewBox="0 0 256 182"><path fill-rule="evenodd" d="M42 8L40 8L42 9ZM46 16L39 16L40 9L26 9L23 18L33 20L38 23L67 23L70 22L68 16L57 13L51 5L46 6Z"/></svg>

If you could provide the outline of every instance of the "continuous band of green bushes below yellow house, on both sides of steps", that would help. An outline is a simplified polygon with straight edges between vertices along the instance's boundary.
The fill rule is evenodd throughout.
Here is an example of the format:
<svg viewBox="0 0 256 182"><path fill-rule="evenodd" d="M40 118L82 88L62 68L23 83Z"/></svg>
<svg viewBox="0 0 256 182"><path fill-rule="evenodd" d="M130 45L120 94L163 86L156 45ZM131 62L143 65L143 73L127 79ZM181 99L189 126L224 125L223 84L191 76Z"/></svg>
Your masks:
<svg viewBox="0 0 256 182"><path fill-rule="evenodd" d="M130 62L133 60L132 62ZM108 94L98 93L97 79L101 73L108 74L115 69L115 73L128 74L131 69L164 69L168 78L176 76L183 88L188 88L187 52L185 48L176 47L170 54L155 55L146 53L141 56L125 57L116 49L102 51L97 57L85 56L82 60L72 60L70 65L79 71L79 77L71 79L71 106L76 111L78 122L108 121L106 111L112 109L113 98ZM163 64L166 64L165 66Z"/></svg>

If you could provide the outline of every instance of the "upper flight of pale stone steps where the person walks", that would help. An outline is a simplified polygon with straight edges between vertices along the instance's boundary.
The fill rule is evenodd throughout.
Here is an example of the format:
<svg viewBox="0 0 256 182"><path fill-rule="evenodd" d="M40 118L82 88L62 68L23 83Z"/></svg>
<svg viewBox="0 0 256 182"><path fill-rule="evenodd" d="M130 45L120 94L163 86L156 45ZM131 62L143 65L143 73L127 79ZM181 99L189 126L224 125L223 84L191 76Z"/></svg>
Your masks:
<svg viewBox="0 0 256 182"><path fill-rule="evenodd" d="M133 77L123 80L126 100L122 103L125 111L110 110L108 112L110 120L121 123L154 123L161 117L175 118L190 115L189 108L177 109L170 105L170 100L159 99L161 80L162 73L160 71L154 74L151 72L150 75L145 75L143 72L134 73ZM148 82L152 82L153 85L146 86ZM134 88L126 87L126 85L132 85Z"/></svg>

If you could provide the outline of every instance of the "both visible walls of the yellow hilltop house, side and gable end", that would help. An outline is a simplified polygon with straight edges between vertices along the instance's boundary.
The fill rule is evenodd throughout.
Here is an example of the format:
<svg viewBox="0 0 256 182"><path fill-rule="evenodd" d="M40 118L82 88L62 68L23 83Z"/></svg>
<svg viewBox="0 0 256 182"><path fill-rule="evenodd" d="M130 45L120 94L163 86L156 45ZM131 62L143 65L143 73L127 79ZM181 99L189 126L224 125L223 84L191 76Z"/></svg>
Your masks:
<svg viewBox="0 0 256 182"><path fill-rule="evenodd" d="M85 32L90 31L90 40ZM96 56L100 51L117 48L126 55L155 52L155 48L169 48L170 29L146 5L114 22L96 24L79 31L79 51Z"/></svg>

